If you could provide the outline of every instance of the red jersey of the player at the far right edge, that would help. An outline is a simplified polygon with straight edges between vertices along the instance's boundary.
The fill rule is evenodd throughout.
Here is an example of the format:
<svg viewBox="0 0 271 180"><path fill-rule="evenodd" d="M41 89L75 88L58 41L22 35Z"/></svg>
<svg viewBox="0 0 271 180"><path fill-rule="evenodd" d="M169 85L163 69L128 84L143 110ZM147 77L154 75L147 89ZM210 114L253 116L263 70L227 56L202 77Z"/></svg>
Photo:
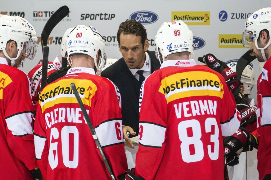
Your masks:
<svg viewBox="0 0 271 180"><path fill-rule="evenodd" d="M257 135L259 147L257 152L259 179L271 174L271 58L264 64L262 74L257 82Z"/></svg>

